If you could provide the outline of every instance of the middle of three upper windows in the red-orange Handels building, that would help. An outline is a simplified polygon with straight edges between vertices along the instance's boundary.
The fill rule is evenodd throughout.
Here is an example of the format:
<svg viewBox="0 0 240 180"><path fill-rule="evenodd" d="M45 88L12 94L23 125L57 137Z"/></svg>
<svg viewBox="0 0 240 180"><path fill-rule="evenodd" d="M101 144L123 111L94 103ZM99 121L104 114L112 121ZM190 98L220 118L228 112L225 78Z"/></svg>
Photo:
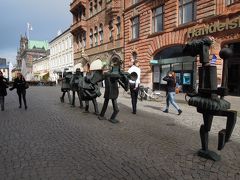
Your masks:
<svg viewBox="0 0 240 180"><path fill-rule="evenodd" d="M163 6L153 10L152 32L163 31Z"/></svg>

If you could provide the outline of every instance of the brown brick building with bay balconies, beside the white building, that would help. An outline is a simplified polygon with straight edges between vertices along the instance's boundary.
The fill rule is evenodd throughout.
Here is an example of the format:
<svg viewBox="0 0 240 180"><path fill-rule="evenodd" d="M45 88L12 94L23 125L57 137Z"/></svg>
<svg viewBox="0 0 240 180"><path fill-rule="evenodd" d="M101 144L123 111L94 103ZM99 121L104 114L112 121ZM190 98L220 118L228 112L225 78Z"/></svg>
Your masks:
<svg viewBox="0 0 240 180"><path fill-rule="evenodd" d="M122 0L72 1L74 64L124 59L123 10Z"/></svg>

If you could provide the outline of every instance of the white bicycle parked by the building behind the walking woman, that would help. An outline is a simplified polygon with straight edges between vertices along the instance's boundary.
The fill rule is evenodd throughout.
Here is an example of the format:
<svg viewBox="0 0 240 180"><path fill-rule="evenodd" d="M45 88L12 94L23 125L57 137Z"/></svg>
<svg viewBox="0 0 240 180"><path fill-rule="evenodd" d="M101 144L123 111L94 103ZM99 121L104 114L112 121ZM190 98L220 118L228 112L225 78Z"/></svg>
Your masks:
<svg viewBox="0 0 240 180"><path fill-rule="evenodd" d="M149 87L144 87L144 86L140 86L139 87L139 93L138 93L138 99L139 100L150 100L150 101L157 101L157 102L161 102L164 99L164 95L161 94L160 91L153 91L151 88Z"/></svg>

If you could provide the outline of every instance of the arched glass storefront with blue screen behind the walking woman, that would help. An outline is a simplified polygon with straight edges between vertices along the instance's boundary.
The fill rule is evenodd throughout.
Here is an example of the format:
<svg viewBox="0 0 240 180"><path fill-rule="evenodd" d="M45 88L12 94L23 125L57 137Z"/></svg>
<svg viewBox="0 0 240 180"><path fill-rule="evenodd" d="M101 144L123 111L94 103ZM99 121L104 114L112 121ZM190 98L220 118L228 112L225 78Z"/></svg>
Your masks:
<svg viewBox="0 0 240 180"><path fill-rule="evenodd" d="M166 81L163 78L168 71L176 73L176 83L180 86L182 92L187 91L196 84L196 63L195 58L184 56L182 53L184 46L172 46L158 52L152 64L153 89L165 90Z"/></svg>

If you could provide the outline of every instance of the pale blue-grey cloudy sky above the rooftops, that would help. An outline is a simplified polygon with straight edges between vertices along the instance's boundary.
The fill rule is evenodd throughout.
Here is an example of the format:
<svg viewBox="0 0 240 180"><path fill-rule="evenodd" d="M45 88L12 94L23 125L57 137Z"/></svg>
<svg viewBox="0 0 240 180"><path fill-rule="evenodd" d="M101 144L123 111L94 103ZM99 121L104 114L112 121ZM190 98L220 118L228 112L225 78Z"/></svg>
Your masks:
<svg viewBox="0 0 240 180"><path fill-rule="evenodd" d="M0 57L16 63L20 37L29 22L30 40L51 41L72 23L72 0L0 0Z"/></svg>

